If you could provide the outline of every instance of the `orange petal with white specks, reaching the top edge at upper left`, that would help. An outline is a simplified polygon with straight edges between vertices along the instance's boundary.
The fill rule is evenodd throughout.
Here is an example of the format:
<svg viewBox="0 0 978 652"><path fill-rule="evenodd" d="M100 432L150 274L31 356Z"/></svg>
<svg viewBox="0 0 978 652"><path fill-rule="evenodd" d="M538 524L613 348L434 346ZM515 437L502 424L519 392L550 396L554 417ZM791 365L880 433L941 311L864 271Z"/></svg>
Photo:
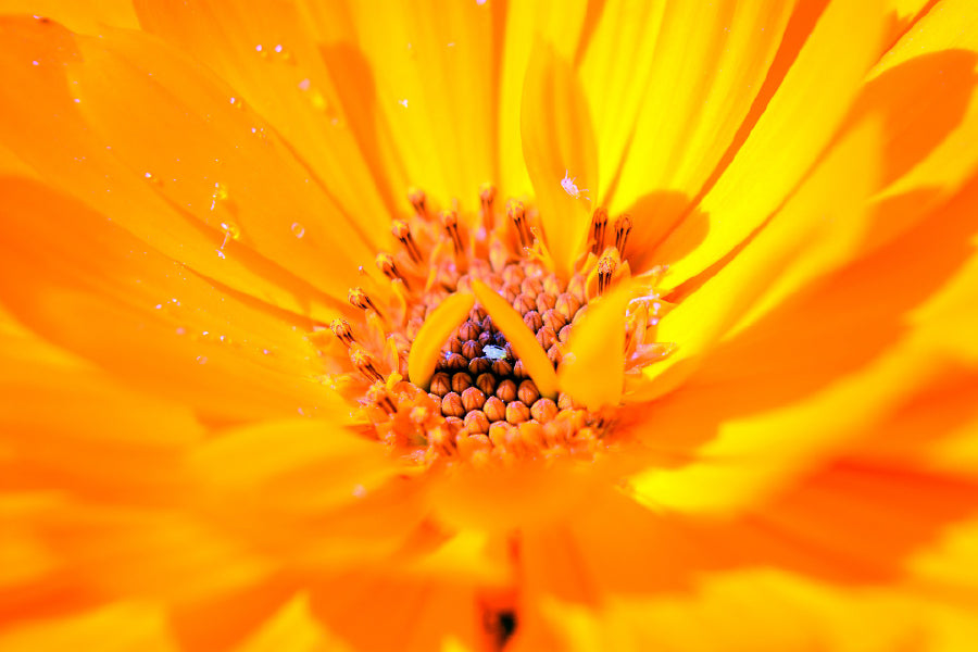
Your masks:
<svg viewBox="0 0 978 652"><path fill-rule="evenodd" d="M341 13L335 4L323 9ZM362 63L355 70L359 77L337 78L339 71L323 57L334 52L331 39L321 40L315 23L289 3L263 10L220 0L192 5L143 0L136 10L145 30L191 54L233 87L246 110L267 122L263 128L268 135L274 129L288 142L344 215L364 225L371 237L387 236L389 215L402 201L403 189L390 186L393 179L378 153L361 150L358 142L376 128L371 124L368 133L358 129L360 118L371 114L351 113L347 105L371 88L369 71ZM365 159L371 154L372 160Z"/></svg>

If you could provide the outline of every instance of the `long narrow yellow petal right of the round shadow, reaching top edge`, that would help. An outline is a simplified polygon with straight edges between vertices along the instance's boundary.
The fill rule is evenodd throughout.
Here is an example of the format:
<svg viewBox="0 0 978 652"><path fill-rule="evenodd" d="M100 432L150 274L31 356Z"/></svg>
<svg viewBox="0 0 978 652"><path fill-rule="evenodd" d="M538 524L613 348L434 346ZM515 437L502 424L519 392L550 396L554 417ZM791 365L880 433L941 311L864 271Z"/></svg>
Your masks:
<svg viewBox="0 0 978 652"><path fill-rule="evenodd" d="M679 225L656 253L679 284L720 260L795 189L817 162L879 53L879 2L831 3L801 49L765 113L700 203L709 230L677 260L702 224ZM860 25L857 32L852 25Z"/></svg>

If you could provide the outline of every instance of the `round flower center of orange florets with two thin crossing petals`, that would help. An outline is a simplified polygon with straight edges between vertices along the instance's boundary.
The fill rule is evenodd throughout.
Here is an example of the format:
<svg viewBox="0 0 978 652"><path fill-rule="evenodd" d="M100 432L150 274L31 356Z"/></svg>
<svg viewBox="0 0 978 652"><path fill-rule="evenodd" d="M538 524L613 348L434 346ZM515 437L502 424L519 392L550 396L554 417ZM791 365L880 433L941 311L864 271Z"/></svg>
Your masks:
<svg viewBox="0 0 978 652"><path fill-rule="evenodd" d="M400 248L376 259L386 281L349 292L365 333L331 324L360 376L337 387L358 398L367 434L419 464L591 457L614 410L577 405L557 391L555 371L588 299L620 273L631 222L616 221L605 249L607 214L597 211L590 268L562 279L548 268L535 211L512 200L498 211L494 198L484 187L478 214L460 217L409 193L414 215L392 225Z"/></svg>

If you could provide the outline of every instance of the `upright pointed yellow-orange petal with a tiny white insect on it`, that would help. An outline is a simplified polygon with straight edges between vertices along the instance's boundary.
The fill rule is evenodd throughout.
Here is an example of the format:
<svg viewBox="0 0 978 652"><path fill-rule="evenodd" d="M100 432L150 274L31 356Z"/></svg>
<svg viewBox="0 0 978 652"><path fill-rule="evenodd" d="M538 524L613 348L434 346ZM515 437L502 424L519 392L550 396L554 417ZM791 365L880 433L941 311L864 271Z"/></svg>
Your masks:
<svg viewBox="0 0 978 652"><path fill-rule="evenodd" d="M539 45L530 60L521 135L547 248L567 278L598 205L598 147L580 83L552 46Z"/></svg>

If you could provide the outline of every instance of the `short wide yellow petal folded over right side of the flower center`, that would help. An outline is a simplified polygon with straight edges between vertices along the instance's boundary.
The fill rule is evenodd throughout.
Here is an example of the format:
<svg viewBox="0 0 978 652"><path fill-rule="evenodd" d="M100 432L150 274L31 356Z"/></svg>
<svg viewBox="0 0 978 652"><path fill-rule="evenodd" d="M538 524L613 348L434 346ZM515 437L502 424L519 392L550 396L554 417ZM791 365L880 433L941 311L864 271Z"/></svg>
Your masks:
<svg viewBox="0 0 978 652"><path fill-rule="evenodd" d="M617 405L625 384L625 309L630 292L626 284L588 304L574 325L568 351L557 374L561 390L589 410Z"/></svg>

